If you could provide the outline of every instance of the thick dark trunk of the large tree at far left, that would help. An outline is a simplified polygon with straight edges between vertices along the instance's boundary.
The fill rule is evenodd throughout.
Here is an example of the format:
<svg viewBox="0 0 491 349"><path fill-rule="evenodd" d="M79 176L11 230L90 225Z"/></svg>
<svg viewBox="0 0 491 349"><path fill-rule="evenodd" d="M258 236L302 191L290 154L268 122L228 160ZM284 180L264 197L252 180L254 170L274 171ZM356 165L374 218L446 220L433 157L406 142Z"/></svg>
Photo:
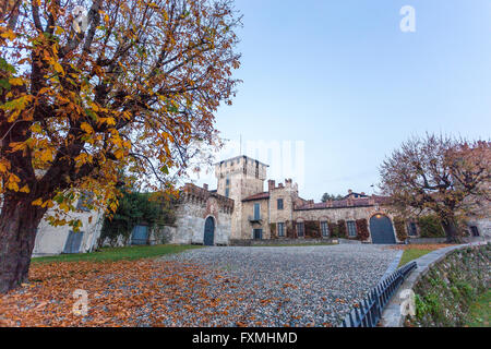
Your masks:
<svg viewBox="0 0 491 349"><path fill-rule="evenodd" d="M4 197L0 214L0 293L27 280L36 228L46 208L33 206L28 197Z"/></svg>

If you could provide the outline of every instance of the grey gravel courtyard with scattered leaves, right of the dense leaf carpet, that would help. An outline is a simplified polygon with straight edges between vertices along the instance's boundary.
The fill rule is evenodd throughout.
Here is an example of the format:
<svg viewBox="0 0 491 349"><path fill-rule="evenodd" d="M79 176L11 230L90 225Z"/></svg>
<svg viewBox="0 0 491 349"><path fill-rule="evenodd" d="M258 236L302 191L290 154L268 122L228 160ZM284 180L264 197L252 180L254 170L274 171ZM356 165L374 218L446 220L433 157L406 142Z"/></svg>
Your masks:
<svg viewBox="0 0 491 349"><path fill-rule="evenodd" d="M334 326L376 285L397 253L359 244L227 246L163 260L202 265L209 282L205 292L216 299L205 323L187 318L177 325Z"/></svg>

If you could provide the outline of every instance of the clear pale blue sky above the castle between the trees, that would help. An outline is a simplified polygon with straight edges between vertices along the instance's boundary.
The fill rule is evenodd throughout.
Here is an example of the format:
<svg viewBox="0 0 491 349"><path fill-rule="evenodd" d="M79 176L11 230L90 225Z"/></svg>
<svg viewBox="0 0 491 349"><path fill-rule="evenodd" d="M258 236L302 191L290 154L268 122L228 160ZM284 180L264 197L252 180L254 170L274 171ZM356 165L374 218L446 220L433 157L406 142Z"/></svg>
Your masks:
<svg viewBox="0 0 491 349"><path fill-rule="evenodd" d="M490 137L491 1L236 3L243 83L216 128L244 144L304 142L303 178L292 176L302 197L371 193L384 157L414 134ZM416 9L416 33L399 29L406 4ZM229 146L217 159L229 155L239 154ZM212 174L203 182L216 185Z"/></svg>

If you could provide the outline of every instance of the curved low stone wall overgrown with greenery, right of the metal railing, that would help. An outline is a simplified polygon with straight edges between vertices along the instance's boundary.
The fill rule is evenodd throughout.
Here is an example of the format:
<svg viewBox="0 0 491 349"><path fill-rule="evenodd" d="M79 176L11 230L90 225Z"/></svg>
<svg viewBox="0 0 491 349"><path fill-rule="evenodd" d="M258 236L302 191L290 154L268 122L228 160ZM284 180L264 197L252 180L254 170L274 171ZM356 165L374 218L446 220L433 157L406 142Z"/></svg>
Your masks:
<svg viewBox="0 0 491 349"><path fill-rule="evenodd" d="M385 308L382 326L462 326L468 302L490 286L490 254L491 245L481 243L440 249L416 260L417 269ZM406 290L416 293L417 314L408 318L400 312Z"/></svg>

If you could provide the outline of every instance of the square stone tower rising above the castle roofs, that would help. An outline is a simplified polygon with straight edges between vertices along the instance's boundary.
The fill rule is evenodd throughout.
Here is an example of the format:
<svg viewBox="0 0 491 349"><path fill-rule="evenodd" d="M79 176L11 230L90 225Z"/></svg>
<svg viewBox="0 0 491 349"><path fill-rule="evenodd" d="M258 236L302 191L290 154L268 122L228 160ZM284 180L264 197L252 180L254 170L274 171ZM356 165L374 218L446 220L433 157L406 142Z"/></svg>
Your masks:
<svg viewBox="0 0 491 349"><path fill-rule="evenodd" d="M233 200L231 217L231 239L250 238L250 231L241 231L242 200L262 193L267 165L248 156L238 156L215 164L217 193Z"/></svg>

